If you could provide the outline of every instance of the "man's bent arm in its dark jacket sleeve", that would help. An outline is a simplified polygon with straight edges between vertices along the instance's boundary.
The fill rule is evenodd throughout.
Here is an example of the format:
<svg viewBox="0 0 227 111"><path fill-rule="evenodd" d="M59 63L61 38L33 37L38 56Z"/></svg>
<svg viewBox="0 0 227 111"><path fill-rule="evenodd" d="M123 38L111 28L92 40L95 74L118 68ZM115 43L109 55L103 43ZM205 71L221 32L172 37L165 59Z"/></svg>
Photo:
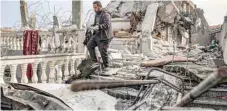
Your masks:
<svg viewBox="0 0 227 111"><path fill-rule="evenodd" d="M99 24L99 29L105 30L105 29L109 28L109 27L110 27L110 24L111 24L111 21L110 21L110 19L111 19L110 14L105 13L105 14L103 15L103 18L102 18L102 19L103 19L104 23Z"/></svg>

